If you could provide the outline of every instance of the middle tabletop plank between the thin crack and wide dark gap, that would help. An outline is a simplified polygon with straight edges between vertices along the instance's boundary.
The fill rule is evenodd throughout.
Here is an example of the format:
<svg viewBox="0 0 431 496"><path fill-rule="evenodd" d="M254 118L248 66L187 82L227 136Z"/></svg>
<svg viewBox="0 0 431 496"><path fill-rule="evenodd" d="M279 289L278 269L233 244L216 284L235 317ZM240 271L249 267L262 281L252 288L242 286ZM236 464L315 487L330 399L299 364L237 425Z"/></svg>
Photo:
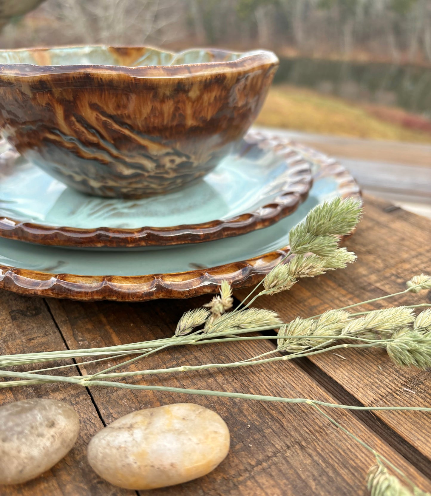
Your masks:
<svg viewBox="0 0 431 496"><path fill-rule="evenodd" d="M169 336L181 314L208 301L155 301L142 304L93 303L50 300L52 313L70 348L108 346ZM274 349L270 341L241 345L204 345L165 350L130 364L162 368L242 360ZM105 367L116 363L109 360ZM80 365L83 373L100 370L100 364ZM253 369L213 370L202 373L133 377L131 383L229 390L267 395L333 398L298 365L280 363ZM373 463L365 450L306 405L246 402L227 398L185 396L174 393L91 388L98 408L110 423L139 408L192 401L217 411L227 422L232 445L227 459L211 474L188 484L154 491L154 495L366 495L364 480ZM371 432L354 415L331 415L391 458L424 488L430 487L410 464ZM420 415L420 414L419 414Z"/></svg>

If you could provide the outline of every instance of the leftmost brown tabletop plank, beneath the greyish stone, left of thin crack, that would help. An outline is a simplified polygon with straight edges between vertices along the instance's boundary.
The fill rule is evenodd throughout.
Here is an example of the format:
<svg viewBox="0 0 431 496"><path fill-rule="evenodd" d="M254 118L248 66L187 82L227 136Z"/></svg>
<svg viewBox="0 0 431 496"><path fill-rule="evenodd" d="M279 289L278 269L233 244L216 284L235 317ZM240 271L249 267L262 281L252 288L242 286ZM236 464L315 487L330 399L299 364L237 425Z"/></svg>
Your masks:
<svg viewBox="0 0 431 496"><path fill-rule="evenodd" d="M65 349L44 300L0 292L1 354L31 353ZM68 362L63 362L62 365ZM44 364L43 367L52 365ZM16 368L16 370L23 370ZM58 373L76 375L75 367ZM19 486L0 486L1 496L125 496L123 491L100 480L86 461L86 446L102 427L90 395L85 388L67 384L0 389L0 405L28 398L52 398L71 405L80 419L75 446L58 464L41 477Z"/></svg>

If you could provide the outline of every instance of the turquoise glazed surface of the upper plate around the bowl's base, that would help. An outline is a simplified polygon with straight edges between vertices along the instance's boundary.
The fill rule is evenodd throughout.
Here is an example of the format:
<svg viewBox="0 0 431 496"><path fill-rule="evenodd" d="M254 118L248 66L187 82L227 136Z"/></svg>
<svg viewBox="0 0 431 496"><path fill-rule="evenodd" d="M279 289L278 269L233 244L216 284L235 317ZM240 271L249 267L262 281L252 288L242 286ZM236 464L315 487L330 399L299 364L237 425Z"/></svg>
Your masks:
<svg viewBox="0 0 431 496"><path fill-rule="evenodd" d="M287 168L289 161L272 151L258 156L260 149L255 148L256 153L245 157L226 157L192 186L134 200L80 193L19 159L15 166L0 168L0 217L79 229L170 227L230 219L275 201L284 185L304 169L304 164Z"/></svg>

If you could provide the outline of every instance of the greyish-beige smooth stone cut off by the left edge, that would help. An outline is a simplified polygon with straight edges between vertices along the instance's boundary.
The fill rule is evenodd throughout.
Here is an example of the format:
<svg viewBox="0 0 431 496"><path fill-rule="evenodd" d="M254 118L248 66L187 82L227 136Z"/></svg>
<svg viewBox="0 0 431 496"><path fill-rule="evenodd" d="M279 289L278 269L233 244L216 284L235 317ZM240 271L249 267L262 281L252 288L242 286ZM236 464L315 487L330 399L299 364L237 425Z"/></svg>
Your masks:
<svg viewBox="0 0 431 496"><path fill-rule="evenodd" d="M62 401L36 398L0 407L0 484L21 484L70 451L79 417Z"/></svg>

